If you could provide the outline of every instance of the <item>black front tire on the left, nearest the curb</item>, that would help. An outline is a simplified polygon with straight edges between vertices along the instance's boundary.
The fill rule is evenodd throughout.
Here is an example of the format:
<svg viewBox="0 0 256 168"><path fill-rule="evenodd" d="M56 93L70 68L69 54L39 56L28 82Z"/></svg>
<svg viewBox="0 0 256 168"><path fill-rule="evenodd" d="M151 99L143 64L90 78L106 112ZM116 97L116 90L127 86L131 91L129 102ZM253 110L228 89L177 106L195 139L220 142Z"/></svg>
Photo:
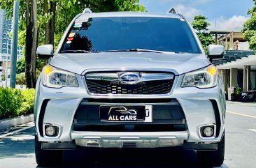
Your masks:
<svg viewBox="0 0 256 168"><path fill-rule="evenodd" d="M41 144L41 142L38 142L38 137L35 136L35 154L37 165L41 167L60 165L62 162L62 151L43 150L41 148Z"/></svg>

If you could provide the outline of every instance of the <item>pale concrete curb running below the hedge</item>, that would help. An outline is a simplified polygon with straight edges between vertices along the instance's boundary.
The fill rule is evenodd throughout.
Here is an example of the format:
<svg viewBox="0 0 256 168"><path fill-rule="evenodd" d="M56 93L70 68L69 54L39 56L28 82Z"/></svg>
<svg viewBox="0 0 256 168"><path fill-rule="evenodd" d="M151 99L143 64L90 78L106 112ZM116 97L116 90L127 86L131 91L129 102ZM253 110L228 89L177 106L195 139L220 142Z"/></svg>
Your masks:
<svg viewBox="0 0 256 168"><path fill-rule="evenodd" d="M22 125L24 123L29 123L34 121L34 114L29 114L27 116L18 116L12 119L0 120L0 131L6 130L6 128L14 127L16 125Z"/></svg>

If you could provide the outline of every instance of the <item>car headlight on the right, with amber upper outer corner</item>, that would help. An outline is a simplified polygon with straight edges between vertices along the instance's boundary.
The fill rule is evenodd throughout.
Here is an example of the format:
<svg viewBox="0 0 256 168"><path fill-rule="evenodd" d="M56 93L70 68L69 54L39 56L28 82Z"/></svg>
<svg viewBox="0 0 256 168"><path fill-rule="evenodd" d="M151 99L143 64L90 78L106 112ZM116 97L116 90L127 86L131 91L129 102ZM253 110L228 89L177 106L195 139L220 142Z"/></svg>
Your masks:
<svg viewBox="0 0 256 168"><path fill-rule="evenodd" d="M183 78L182 87L195 86L198 88L211 88L216 86L217 69L215 66L208 66L201 70L188 72Z"/></svg>

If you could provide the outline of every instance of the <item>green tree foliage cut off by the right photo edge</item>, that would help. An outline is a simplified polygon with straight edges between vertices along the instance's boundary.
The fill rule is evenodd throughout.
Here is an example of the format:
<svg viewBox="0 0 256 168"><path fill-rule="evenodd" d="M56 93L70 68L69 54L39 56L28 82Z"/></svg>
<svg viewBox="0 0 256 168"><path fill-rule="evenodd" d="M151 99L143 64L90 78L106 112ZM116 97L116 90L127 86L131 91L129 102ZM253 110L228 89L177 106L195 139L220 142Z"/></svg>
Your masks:
<svg viewBox="0 0 256 168"><path fill-rule="evenodd" d="M255 6L247 11L250 18L243 24L243 38L248 40L250 49L256 50L256 0Z"/></svg>

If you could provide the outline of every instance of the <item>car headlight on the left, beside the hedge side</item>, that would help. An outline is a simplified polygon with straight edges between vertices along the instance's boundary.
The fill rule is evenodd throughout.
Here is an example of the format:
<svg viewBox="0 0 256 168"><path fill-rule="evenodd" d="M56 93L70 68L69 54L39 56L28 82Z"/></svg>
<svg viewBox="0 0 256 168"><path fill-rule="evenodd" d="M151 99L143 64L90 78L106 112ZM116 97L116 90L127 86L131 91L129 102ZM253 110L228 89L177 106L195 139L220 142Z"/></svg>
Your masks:
<svg viewBox="0 0 256 168"><path fill-rule="evenodd" d="M52 66L43 68L43 85L52 88L61 88L63 86L78 86L76 75L72 72L60 70Z"/></svg>

